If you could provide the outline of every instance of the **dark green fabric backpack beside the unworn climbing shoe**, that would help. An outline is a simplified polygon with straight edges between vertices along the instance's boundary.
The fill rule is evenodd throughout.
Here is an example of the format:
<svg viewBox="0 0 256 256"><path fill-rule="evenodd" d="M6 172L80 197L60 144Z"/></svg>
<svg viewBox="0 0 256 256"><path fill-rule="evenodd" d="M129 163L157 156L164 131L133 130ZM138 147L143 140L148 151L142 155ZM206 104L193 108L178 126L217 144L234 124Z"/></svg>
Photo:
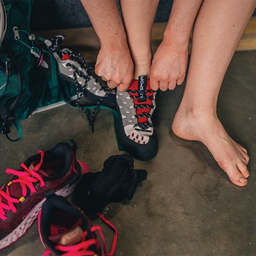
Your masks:
<svg viewBox="0 0 256 256"><path fill-rule="evenodd" d="M45 76L36 67L36 58L28 47L33 42L26 32L33 0L3 0L3 4L7 29L0 47L0 132L13 140L9 133L15 125L16 141L22 136L20 119L28 118L37 108L69 99L76 94L76 88L58 80L56 61L50 52L51 76ZM6 66L10 66L8 76Z"/></svg>

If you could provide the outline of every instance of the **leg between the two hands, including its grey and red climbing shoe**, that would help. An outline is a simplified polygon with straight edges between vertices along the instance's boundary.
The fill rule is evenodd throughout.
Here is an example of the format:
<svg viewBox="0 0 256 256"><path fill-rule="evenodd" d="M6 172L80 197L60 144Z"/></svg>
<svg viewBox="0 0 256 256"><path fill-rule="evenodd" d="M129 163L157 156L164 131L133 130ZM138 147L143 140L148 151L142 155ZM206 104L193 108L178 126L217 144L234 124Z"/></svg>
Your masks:
<svg viewBox="0 0 256 256"><path fill-rule="evenodd" d="M149 84L151 31L158 0L120 0L125 31L134 64L134 80L128 90L116 92L120 143L127 152L143 161L157 154L157 136L151 121L156 108ZM139 81L139 76L140 81Z"/></svg>

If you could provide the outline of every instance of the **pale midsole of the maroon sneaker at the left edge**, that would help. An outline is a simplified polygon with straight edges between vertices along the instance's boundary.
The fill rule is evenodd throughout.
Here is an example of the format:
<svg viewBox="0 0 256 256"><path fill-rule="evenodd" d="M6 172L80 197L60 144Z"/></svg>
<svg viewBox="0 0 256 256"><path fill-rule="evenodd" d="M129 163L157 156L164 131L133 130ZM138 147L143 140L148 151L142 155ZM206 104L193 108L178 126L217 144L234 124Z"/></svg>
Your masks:
<svg viewBox="0 0 256 256"><path fill-rule="evenodd" d="M76 178L74 180L72 180L67 186L57 190L55 192L56 195L64 196L64 197L70 196L73 193L77 182L79 182L81 175L85 172L88 172L87 164L84 164L83 162L79 161L78 159L77 159L77 162L81 166L80 175L77 174ZM87 166L87 168L85 166ZM72 184L72 186L70 186L70 184ZM44 198L41 202L36 204L36 206L29 212L29 214L26 216L26 218L24 218L22 223L20 223L20 225L17 228L15 228L15 230L13 230L8 236L6 236L0 240L0 250L15 243L21 236L26 234L28 229L31 227L31 225L36 220L36 218L38 216L38 212L42 209L42 205L44 204L45 199L46 198Z"/></svg>

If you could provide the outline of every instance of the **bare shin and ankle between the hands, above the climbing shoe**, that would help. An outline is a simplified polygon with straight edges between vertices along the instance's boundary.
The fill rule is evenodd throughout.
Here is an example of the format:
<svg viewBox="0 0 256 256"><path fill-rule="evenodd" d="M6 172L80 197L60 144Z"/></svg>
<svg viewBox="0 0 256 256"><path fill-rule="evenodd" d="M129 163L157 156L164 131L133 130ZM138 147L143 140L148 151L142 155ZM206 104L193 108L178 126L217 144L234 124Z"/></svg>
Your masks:
<svg viewBox="0 0 256 256"><path fill-rule="evenodd" d="M151 31L159 0L120 0L122 15L134 63L134 79L149 76Z"/></svg>

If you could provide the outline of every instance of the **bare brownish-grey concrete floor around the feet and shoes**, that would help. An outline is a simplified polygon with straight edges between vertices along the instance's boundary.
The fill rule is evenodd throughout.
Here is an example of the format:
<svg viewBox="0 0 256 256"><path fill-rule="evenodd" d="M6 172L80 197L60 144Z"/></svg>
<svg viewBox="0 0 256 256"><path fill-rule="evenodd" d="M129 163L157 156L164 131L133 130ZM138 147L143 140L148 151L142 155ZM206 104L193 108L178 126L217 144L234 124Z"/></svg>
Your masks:
<svg viewBox="0 0 256 256"><path fill-rule="evenodd" d="M207 86L207 84L205 84ZM219 115L230 135L250 152L248 186L234 186L203 145L182 145L170 136L170 124L184 90L159 93L155 115L159 152L130 204L111 204L106 211L119 230L116 255L256 255L256 52L236 53L223 83ZM113 116L101 111L95 134L83 115L63 106L22 122L24 138L0 138L1 182L5 168L18 166L38 149L74 138L78 156L92 171L118 151ZM195 146L195 147L194 147ZM204 154L202 154L202 151ZM105 229L105 228L104 228ZM106 230L107 236L111 232ZM0 255L41 255L36 225Z"/></svg>

